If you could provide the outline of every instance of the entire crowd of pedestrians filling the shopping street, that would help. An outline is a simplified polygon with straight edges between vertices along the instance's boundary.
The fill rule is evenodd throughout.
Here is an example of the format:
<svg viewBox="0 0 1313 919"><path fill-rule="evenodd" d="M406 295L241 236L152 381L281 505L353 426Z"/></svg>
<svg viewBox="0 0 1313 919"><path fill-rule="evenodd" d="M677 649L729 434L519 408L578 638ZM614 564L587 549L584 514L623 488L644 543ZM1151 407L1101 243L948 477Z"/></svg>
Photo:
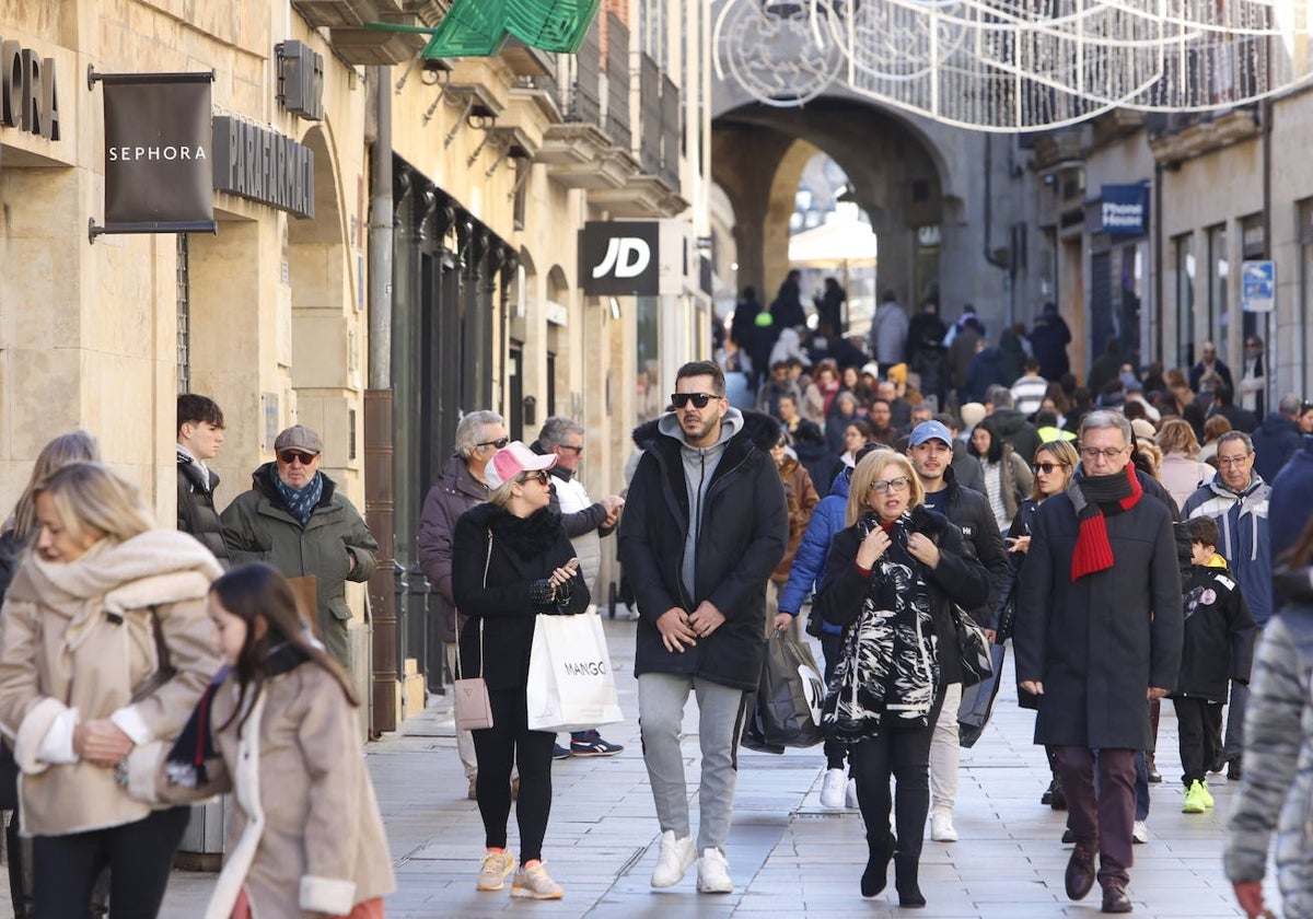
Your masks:
<svg viewBox="0 0 1313 919"><path fill-rule="evenodd" d="M491 712L457 738L484 832L475 887L565 895L544 860L553 759L622 747L596 727L567 746L530 730L530 647L540 616L596 610L614 537L637 618L653 887L696 865L700 893L734 889L747 706L767 638L805 622L827 685L821 803L861 814L863 897L892 864L899 906L924 906L926 836L960 840L964 716L981 695L964 689L998 679L972 654L979 637L1014 647L1052 771L1041 803L1067 811L1071 899L1098 884L1103 912L1133 908L1170 700L1182 811L1208 813L1212 776L1239 782L1225 870L1242 907L1262 912L1278 834L1285 911L1313 915L1296 842L1310 796L1313 404L1287 394L1263 412L1262 341L1246 341L1238 390L1212 345L1141 377L1115 343L1079 386L1053 305L993 343L969 305L949 326L937 303L909 315L892 291L869 339L850 340L838 285L814 335L793 276L769 310L746 291L739 312L729 357L683 365L667 411L633 432L622 495L590 496L570 417L529 445L491 411L457 427L418 547L448 667L483 681ZM751 407L730 403L725 364L751 378ZM207 462L223 427L213 400L179 399L179 532L76 432L42 452L0 536L0 803L32 839L9 842L20 916L83 915L106 895L155 915L181 805L226 790L236 817L207 916L382 916L394 880L344 599L378 545L303 425L219 512Z"/></svg>

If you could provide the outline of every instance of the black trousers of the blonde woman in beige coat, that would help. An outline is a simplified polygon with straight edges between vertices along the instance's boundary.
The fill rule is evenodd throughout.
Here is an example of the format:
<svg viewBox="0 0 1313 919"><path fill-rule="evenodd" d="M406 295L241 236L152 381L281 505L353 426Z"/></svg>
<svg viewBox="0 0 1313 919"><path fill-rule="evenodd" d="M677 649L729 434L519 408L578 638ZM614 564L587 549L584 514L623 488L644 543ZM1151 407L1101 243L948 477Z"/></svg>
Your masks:
<svg viewBox="0 0 1313 919"><path fill-rule="evenodd" d="M190 813L189 807L169 807L108 830L37 836L33 840L37 919L85 916L96 877L104 868L109 868L114 919L155 919Z"/></svg>

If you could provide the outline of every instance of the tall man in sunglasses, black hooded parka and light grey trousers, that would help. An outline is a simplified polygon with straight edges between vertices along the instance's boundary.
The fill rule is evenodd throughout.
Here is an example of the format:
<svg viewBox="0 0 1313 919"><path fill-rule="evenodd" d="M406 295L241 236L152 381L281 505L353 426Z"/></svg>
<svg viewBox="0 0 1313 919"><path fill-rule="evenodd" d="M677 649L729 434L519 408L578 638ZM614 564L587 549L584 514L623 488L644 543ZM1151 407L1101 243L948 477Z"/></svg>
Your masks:
<svg viewBox="0 0 1313 919"><path fill-rule="evenodd" d="M769 448L779 423L739 412L725 375L695 361L675 377L675 406L634 431L643 450L620 524L620 558L638 603L638 722L662 828L654 887L699 861L697 889L729 893L725 860L744 692L765 656L765 582L789 536ZM697 695L702 771L695 847L680 730Z"/></svg>

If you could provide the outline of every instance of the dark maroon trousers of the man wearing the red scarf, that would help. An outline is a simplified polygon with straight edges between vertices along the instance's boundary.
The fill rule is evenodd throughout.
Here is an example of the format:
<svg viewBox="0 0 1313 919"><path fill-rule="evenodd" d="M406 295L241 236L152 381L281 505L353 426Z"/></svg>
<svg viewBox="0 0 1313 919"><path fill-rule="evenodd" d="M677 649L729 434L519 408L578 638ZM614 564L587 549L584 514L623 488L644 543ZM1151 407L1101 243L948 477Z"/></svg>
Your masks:
<svg viewBox="0 0 1313 919"><path fill-rule="evenodd" d="M1075 842L1099 849L1099 884L1123 886L1134 864L1130 831L1136 819L1136 751L1098 752L1099 790L1094 789L1095 752L1057 747L1058 777L1067 800L1067 824Z"/></svg>

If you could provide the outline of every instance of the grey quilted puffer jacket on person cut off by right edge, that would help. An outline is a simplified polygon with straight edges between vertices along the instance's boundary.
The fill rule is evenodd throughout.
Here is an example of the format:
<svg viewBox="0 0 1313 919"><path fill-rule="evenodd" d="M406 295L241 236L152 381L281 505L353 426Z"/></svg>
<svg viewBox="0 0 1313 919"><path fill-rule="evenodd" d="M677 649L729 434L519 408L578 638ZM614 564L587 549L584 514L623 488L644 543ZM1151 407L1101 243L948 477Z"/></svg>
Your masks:
<svg viewBox="0 0 1313 919"><path fill-rule="evenodd" d="M1313 916L1313 568L1281 571L1291 599L1258 646L1245 713L1245 773L1226 823L1224 864L1232 882L1260 881L1276 834L1281 915Z"/></svg>

